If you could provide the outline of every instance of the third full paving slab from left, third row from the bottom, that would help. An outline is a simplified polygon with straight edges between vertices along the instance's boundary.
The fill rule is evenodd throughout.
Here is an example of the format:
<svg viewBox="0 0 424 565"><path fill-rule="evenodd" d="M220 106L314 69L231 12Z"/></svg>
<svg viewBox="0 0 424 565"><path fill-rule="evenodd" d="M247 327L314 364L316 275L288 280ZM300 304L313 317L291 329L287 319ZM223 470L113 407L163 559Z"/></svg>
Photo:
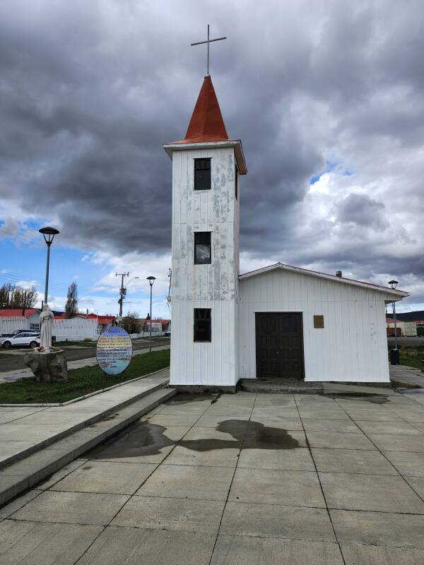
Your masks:
<svg viewBox="0 0 424 565"><path fill-rule="evenodd" d="M325 508L316 472L237 468L229 500Z"/></svg>

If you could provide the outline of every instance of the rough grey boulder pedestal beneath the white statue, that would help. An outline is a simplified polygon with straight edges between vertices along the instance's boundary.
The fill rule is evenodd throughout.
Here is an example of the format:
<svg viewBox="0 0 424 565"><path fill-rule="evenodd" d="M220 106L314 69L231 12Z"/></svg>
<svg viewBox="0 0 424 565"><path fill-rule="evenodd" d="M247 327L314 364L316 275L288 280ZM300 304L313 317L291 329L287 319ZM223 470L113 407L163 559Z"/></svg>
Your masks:
<svg viewBox="0 0 424 565"><path fill-rule="evenodd" d="M66 383L68 380L68 366L64 350L31 351L25 353L23 362L35 374L37 383Z"/></svg>

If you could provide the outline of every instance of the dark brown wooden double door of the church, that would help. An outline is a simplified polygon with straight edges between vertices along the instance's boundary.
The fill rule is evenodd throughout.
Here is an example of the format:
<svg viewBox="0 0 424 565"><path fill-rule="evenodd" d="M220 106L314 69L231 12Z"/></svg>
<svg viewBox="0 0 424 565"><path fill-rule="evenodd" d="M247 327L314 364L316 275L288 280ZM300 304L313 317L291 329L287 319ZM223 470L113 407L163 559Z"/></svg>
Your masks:
<svg viewBox="0 0 424 565"><path fill-rule="evenodd" d="M257 376L304 379L300 312L258 312Z"/></svg>

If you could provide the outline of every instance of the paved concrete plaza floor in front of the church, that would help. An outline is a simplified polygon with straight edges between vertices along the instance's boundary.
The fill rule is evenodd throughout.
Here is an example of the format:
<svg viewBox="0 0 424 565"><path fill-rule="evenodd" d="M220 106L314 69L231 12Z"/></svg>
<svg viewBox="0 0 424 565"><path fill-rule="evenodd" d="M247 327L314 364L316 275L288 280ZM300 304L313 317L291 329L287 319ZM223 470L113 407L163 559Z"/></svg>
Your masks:
<svg viewBox="0 0 424 565"><path fill-rule="evenodd" d="M423 564L423 404L177 395L0 509L0 562Z"/></svg>

